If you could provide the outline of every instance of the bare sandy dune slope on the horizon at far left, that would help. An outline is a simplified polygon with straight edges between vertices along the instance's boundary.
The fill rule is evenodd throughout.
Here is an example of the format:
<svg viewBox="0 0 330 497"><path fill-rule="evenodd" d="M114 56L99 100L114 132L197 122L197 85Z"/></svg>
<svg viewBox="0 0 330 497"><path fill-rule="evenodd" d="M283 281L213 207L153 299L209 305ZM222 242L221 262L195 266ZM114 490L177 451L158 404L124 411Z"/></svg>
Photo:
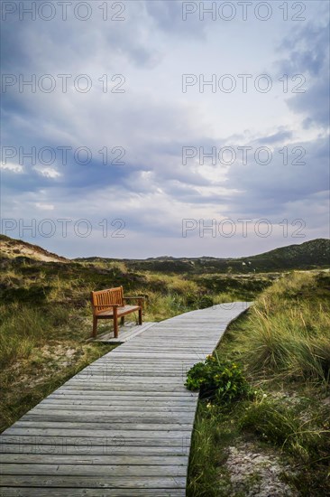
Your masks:
<svg viewBox="0 0 330 497"><path fill-rule="evenodd" d="M43 262L69 262L68 258L62 258L38 245L32 245L21 239L11 239L0 235L0 253L2 258L32 258Z"/></svg>

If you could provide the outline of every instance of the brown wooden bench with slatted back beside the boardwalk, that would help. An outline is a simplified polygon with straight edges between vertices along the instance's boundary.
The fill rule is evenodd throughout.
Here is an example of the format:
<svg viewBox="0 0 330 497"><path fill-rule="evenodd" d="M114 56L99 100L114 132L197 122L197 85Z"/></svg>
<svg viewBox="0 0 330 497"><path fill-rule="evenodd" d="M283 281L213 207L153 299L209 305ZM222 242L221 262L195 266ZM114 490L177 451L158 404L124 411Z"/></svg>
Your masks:
<svg viewBox="0 0 330 497"><path fill-rule="evenodd" d="M137 305L126 305L126 300L137 300ZM118 337L118 317L121 324L124 324L126 314L139 313L139 324L142 324L142 296L123 295L123 286L91 292L90 300L93 308L93 337L97 333L98 319L113 319L115 338Z"/></svg>

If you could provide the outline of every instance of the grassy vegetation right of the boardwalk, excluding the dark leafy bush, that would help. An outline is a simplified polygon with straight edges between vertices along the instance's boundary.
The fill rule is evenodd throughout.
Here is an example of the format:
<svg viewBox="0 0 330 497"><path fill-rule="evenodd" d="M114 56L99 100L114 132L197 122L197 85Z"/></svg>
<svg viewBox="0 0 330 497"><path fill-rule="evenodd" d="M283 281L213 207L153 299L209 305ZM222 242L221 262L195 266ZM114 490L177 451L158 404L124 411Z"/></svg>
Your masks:
<svg viewBox="0 0 330 497"><path fill-rule="evenodd" d="M241 362L253 395L200 399L188 495L244 495L227 459L231 446L251 444L280 459L281 479L296 494L329 494L329 290L326 272L291 273L230 325L215 358Z"/></svg>

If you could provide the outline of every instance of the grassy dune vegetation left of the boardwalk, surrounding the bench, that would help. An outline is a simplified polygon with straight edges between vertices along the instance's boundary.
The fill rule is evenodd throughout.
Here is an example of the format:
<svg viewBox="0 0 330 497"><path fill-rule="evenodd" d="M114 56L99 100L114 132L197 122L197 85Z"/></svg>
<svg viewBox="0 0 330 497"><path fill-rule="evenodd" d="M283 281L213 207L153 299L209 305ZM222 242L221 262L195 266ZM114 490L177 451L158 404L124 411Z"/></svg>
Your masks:
<svg viewBox="0 0 330 497"><path fill-rule="evenodd" d="M1 236L0 428L113 346L87 343L91 290L124 286L145 295L145 321L232 300L252 300L279 275L189 275L135 270L118 260L69 261ZM22 254L29 254L29 257ZM32 258L32 256L35 258ZM46 258L47 261L42 260ZM59 260L57 260L59 259ZM134 319L133 314L128 319ZM99 333L111 322L99 325Z"/></svg>

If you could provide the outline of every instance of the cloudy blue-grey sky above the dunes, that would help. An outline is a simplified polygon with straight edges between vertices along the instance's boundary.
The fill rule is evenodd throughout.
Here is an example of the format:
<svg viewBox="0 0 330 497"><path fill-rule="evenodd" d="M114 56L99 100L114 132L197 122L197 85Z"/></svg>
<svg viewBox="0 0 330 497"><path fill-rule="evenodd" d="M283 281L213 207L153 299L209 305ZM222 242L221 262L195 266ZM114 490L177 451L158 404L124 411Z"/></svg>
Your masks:
<svg viewBox="0 0 330 497"><path fill-rule="evenodd" d="M2 233L69 258L329 238L329 3L3 1Z"/></svg>

